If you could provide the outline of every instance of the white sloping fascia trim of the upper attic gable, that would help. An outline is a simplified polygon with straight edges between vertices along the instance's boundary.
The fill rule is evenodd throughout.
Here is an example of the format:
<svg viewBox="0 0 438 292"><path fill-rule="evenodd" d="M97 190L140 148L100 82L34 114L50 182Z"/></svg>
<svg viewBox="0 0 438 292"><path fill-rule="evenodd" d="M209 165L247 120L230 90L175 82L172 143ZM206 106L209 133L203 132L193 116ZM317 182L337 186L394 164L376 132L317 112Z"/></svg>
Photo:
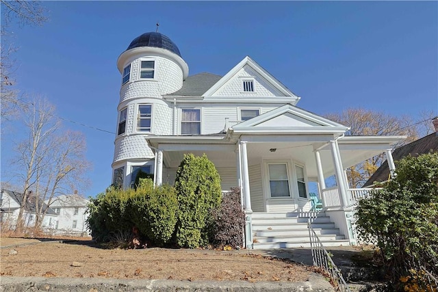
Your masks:
<svg viewBox="0 0 438 292"><path fill-rule="evenodd" d="M248 56L244 57L244 59L242 59L242 61L240 61L239 64L234 66L234 68L232 68L226 75L224 75L224 77L219 79L218 82L216 82L213 86L211 86L211 88L209 88L209 90L207 90L207 92L205 92L203 94L203 96L206 96L206 97L211 96L212 94L214 94L214 92L217 92L234 75L236 75L237 72L239 72L242 68L244 68L245 65L248 65L251 68L253 68L253 70L258 72L259 75L261 75L261 77L265 78L266 81L268 81L268 83L272 84L274 86L274 88L276 88L277 90L279 90L280 92L285 94L285 96L295 97L295 98L297 98L297 101L298 101L299 97L296 96L296 94L294 94L292 91L290 91L287 87L285 87L285 85L283 85L280 81L275 79L272 75L270 75L270 73L268 71L264 70L259 64L254 62L253 59L251 59Z"/></svg>

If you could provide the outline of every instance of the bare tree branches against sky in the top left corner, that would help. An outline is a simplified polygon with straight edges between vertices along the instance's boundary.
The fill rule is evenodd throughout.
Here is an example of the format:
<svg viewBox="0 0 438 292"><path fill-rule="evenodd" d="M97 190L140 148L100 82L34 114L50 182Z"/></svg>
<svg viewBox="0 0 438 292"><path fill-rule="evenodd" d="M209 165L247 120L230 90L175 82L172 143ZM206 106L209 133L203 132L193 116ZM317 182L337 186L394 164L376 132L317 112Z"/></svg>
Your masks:
<svg viewBox="0 0 438 292"><path fill-rule="evenodd" d="M14 88L14 70L16 62L13 59L17 47L14 46L11 23L24 25L42 25L47 21L47 11L39 1L5 1L1 5L1 119L8 120L16 114L18 105L22 103L22 96Z"/></svg>

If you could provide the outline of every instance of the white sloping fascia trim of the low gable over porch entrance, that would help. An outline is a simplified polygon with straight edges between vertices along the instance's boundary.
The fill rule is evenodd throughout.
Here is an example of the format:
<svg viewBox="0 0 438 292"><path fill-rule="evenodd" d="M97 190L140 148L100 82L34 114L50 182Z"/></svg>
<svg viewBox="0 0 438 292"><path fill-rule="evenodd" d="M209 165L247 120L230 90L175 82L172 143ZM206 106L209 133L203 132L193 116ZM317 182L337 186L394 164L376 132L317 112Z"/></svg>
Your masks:
<svg viewBox="0 0 438 292"><path fill-rule="evenodd" d="M237 124L237 126L233 127L233 129L240 129L240 127L254 127L257 124L261 124L262 122L266 122L267 120L270 120L277 116L281 116L282 114L285 113L289 113L294 116L299 116L300 118L309 120L311 122L314 122L315 124L321 124L322 126L329 127L332 129L336 127L342 128L344 129L344 131L348 131L348 129L350 129L342 124L333 122L332 120L328 120L326 118L323 118L322 116L318 116L316 114L311 113L310 111L306 111L305 109L301 109L300 107L296 107L295 105L291 105L291 104L283 105L282 107L277 107L276 109L272 109L272 111L268 111L265 114L261 114L250 120L246 120L245 122Z"/></svg>

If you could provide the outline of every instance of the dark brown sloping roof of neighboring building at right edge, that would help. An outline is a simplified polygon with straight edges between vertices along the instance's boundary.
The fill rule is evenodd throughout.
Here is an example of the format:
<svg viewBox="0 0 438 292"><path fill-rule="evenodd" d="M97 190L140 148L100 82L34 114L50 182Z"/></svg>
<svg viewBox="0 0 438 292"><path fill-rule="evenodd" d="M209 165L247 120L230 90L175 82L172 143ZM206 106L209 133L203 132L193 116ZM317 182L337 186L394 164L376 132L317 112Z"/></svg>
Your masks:
<svg viewBox="0 0 438 292"><path fill-rule="evenodd" d="M426 154L430 151L437 152L438 151L438 132L427 135L426 137L422 137L419 140L401 146L397 148L392 153L392 157L394 161L402 159L405 156L411 155L413 157L417 157L418 155ZM382 163L381 167L374 172L374 174L366 181L363 187L367 187L373 185L375 182L383 182L387 181L389 177L389 168L388 162L385 161Z"/></svg>

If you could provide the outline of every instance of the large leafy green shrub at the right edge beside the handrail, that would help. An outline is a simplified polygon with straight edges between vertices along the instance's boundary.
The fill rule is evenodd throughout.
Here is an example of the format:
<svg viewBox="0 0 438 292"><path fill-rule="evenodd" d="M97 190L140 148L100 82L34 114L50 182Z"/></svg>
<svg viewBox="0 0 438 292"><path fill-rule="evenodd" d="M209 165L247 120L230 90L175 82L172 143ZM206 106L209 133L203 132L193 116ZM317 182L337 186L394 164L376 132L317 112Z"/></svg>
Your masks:
<svg viewBox="0 0 438 292"><path fill-rule="evenodd" d="M359 238L376 239L393 282L438 275L438 153L405 157L397 177L357 207Z"/></svg>

